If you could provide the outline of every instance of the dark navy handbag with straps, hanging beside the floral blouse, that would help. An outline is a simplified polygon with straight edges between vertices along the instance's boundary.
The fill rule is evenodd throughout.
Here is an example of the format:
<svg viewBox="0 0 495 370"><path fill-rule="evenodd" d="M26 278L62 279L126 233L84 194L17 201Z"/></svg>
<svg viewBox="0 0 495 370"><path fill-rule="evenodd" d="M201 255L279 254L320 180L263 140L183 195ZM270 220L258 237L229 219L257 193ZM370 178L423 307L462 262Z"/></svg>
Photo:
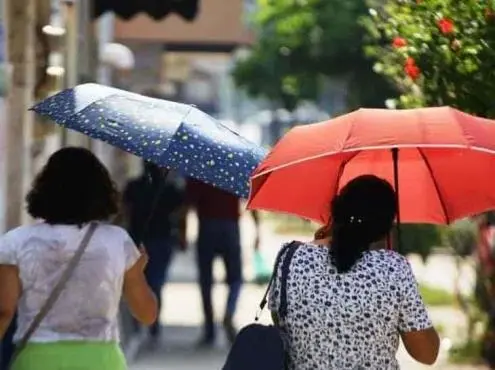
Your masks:
<svg viewBox="0 0 495 370"><path fill-rule="evenodd" d="M287 317L287 278L289 276L292 257L300 242L286 245L277 256L272 277L259 305L255 321L268 301L268 294L277 278L282 256L282 276L280 285L280 305L278 308L278 325L261 325L254 323L243 328L237 335L222 370L285 370L288 366L287 341L284 325Z"/></svg>

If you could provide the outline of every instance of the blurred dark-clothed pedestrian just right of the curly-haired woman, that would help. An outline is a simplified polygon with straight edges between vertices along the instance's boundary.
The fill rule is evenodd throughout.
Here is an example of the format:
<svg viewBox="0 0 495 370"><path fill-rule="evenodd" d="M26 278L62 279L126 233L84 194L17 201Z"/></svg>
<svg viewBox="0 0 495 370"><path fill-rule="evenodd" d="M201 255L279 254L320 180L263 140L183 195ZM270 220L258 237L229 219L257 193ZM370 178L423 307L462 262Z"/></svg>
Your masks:
<svg viewBox="0 0 495 370"><path fill-rule="evenodd" d="M179 220L185 200L185 182L150 162L142 174L124 190L126 225L134 242L142 244L149 256L146 280L162 308L162 289L167 280L174 249L179 243ZM160 321L150 327L153 341L160 337Z"/></svg>

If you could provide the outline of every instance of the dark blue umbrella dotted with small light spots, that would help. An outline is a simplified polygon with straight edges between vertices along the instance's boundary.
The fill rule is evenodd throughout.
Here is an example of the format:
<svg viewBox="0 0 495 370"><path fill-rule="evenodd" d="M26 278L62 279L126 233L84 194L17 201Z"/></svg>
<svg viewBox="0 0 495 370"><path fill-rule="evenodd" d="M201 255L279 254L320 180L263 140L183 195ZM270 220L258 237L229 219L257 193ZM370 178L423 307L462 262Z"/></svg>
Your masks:
<svg viewBox="0 0 495 370"><path fill-rule="evenodd" d="M248 197L249 176L267 153L194 106L98 84L64 90L31 109L242 198Z"/></svg>

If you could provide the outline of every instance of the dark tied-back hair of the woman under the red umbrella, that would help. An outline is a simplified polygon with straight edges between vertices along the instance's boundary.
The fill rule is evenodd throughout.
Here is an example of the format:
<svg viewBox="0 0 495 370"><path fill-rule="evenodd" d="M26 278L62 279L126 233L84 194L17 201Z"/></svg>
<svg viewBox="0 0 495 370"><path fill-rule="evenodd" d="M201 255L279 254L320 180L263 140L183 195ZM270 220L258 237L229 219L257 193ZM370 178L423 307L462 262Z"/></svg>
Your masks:
<svg viewBox="0 0 495 370"><path fill-rule="evenodd" d="M397 213L395 192L385 180L363 175L332 201L330 257L339 273L349 271L363 252L390 232Z"/></svg>

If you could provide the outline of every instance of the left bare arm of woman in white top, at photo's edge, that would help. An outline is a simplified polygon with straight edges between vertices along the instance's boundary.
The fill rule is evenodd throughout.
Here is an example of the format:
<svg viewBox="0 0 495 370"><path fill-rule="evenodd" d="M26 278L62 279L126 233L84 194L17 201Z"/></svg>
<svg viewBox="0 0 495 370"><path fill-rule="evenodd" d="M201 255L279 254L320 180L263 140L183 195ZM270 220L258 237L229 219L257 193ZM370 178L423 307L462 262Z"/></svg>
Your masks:
<svg viewBox="0 0 495 370"><path fill-rule="evenodd" d="M0 338L3 338L15 316L21 291L17 266L0 265Z"/></svg>

